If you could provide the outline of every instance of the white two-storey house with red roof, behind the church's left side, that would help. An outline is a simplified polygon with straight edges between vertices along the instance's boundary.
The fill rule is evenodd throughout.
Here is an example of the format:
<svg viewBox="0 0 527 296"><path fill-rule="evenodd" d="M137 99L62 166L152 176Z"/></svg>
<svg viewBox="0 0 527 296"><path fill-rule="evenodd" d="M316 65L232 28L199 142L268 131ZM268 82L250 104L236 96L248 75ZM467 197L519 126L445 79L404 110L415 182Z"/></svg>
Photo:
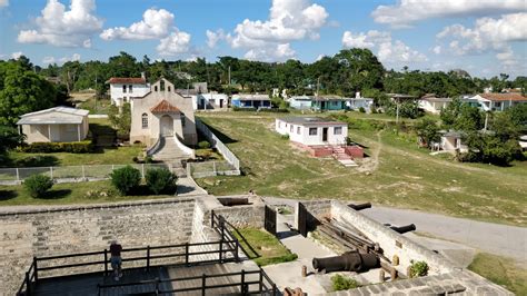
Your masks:
<svg viewBox="0 0 527 296"><path fill-rule="evenodd" d="M150 91L145 76L141 78L112 77L108 83L110 85L111 103L116 106L122 106L125 102L130 102L130 98L142 97Z"/></svg>

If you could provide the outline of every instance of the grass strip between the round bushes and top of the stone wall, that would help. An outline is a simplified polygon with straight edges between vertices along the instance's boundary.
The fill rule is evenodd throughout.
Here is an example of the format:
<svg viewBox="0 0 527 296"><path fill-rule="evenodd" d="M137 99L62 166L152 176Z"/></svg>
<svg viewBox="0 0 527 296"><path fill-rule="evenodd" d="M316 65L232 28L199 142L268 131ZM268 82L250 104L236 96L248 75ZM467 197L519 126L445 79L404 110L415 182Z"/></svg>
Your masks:
<svg viewBox="0 0 527 296"><path fill-rule="evenodd" d="M170 196L146 196L141 193L120 196L109 180L56 184L42 198L32 198L23 186L0 186L0 206L93 204L166 197Z"/></svg>

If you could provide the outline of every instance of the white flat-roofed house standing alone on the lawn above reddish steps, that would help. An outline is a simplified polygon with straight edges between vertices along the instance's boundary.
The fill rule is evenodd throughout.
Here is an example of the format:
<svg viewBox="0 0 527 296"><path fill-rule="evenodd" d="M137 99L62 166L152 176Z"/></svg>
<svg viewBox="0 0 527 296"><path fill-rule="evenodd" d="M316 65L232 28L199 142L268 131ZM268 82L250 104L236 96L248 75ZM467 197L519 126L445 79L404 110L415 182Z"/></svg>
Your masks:
<svg viewBox="0 0 527 296"><path fill-rule="evenodd" d="M345 145L348 136L346 122L320 117L277 118L275 129L280 135L288 135L291 141L305 146Z"/></svg>

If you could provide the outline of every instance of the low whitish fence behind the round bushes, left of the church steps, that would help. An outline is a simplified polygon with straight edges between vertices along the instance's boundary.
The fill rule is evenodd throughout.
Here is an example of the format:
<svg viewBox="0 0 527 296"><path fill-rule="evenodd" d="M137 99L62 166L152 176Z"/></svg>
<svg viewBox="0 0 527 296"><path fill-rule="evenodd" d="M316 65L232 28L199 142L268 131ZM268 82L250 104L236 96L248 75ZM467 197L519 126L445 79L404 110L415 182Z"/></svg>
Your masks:
<svg viewBox="0 0 527 296"><path fill-rule="evenodd" d="M0 185L17 185L31 175L42 174L54 179L57 182L77 182L105 180L110 178L110 174L127 165L92 165L92 166L64 166L64 167L31 167L31 168L0 168ZM186 177L187 171L177 165L171 164L132 164L132 166L145 178L145 174L151 168L167 168L178 177Z"/></svg>

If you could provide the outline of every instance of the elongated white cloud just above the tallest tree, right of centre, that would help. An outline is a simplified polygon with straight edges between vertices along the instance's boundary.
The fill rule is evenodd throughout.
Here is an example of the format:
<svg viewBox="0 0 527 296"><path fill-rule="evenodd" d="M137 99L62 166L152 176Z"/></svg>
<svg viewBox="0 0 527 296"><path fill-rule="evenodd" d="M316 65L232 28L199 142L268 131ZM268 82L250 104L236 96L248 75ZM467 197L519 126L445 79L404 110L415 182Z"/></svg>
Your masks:
<svg viewBox="0 0 527 296"><path fill-rule="evenodd" d="M377 49L377 57L381 62L409 63L427 61L427 57L411 49L400 40L392 40L390 32L370 30L368 32L352 33L346 31L342 34L345 48Z"/></svg>

